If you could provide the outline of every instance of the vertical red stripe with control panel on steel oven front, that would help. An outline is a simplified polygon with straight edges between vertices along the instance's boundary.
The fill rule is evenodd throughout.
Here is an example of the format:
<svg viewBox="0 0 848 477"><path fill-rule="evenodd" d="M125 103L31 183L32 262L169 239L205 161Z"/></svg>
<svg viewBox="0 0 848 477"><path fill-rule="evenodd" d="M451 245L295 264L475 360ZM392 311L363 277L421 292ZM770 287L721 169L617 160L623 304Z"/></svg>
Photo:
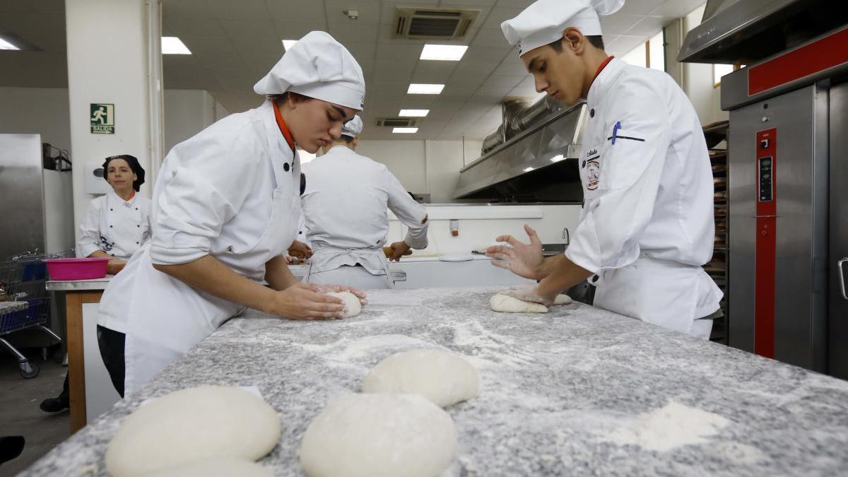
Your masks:
<svg viewBox="0 0 848 477"><path fill-rule="evenodd" d="M765 146L765 147L763 147ZM777 129L756 133L756 266L754 274L754 352L774 357L775 261L777 259ZM767 160L767 171L763 171ZM763 174L771 191L763 193ZM752 191L755 192L755 191ZM765 199L764 199L765 198Z"/></svg>

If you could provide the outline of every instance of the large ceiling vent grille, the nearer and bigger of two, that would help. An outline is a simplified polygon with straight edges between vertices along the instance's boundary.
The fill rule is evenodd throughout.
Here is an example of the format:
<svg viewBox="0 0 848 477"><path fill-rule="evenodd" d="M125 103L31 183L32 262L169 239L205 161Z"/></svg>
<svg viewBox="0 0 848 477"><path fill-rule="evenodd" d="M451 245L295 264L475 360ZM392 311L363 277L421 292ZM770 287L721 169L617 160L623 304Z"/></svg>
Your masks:
<svg viewBox="0 0 848 477"><path fill-rule="evenodd" d="M464 38L480 10L397 8L394 36L398 38L459 40Z"/></svg>

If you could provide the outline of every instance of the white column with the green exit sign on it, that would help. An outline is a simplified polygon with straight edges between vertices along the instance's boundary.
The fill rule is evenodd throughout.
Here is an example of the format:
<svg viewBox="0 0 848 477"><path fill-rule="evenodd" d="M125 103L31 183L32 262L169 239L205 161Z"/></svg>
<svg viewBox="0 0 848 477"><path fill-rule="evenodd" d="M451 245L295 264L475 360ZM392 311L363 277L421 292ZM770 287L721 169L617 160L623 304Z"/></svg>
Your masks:
<svg viewBox="0 0 848 477"><path fill-rule="evenodd" d="M160 4L65 0L65 14L74 215L79 224L95 197L86 191L86 175L110 155L136 156L147 172L141 193L151 196L163 143ZM96 126L92 104L107 105L106 115L96 115ZM109 131L109 126L113 133L92 132Z"/></svg>

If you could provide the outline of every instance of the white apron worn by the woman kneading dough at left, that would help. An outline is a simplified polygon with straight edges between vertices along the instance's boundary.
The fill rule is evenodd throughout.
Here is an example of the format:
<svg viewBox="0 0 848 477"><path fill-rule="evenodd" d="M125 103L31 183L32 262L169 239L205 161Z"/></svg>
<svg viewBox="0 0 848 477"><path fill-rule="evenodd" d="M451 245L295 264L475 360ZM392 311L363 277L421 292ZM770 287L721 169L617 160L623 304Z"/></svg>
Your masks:
<svg viewBox="0 0 848 477"><path fill-rule="evenodd" d="M284 181L290 173L274 167L276 189L268 226L252 250L243 254L244 261L265 263L282 255L293 242L297 230L294 221L299 214L300 198ZM194 289L176 278L153 268L149 244L133 255L126 272L134 275L128 295L128 329L126 333L127 393L146 384L170 362L204 340L215 329L244 307ZM130 275L130 273L126 273Z"/></svg>

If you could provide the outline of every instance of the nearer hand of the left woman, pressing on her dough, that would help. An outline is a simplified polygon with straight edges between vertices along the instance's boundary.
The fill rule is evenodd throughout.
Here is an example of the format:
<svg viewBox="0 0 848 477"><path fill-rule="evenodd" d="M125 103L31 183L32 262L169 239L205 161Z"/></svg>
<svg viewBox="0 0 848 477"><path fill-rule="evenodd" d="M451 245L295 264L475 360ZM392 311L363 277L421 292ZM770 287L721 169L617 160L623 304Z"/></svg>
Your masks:
<svg viewBox="0 0 848 477"><path fill-rule="evenodd" d="M334 320L343 317L343 300L336 296L326 295L319 287L326 287L326 285L295 283L287 289L275 291L271 303L268 303L263 311L292 320ZM340 288L346 289L339 291L352 290L347 289L349 287Z"/></svg>

